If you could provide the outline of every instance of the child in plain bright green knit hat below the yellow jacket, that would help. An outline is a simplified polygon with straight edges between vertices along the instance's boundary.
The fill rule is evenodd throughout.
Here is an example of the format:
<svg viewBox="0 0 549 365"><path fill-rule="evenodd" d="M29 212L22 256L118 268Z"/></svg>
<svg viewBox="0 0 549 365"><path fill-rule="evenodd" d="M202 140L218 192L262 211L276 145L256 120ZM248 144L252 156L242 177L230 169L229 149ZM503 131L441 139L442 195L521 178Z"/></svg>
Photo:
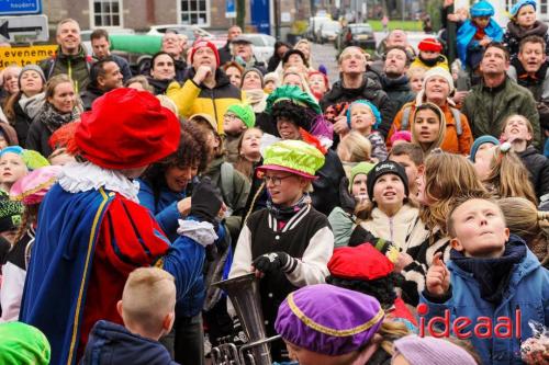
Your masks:
<svg viewBox="0 0 549 365"><path fill-rule="evenodd" d="M224 145L227 151L227 161L235 163L238 160L238 141L244 130L256 125L256 114L248 104L233 104L223 115Z"/></svg>

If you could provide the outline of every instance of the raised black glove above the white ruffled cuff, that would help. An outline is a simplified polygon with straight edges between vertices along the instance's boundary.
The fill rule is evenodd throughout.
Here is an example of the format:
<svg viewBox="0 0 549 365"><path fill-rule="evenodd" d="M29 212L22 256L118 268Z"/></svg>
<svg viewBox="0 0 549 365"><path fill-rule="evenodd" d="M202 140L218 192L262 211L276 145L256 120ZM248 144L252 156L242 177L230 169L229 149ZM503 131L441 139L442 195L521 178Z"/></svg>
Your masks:
<svg viewBox="0 0 549 365"><path fill-rule="evenodd" d="M212 185L210 178L203 178L192 191L190 215L201 221L211 223L217 230L217 214L223 199L217 187Z"/></svg>

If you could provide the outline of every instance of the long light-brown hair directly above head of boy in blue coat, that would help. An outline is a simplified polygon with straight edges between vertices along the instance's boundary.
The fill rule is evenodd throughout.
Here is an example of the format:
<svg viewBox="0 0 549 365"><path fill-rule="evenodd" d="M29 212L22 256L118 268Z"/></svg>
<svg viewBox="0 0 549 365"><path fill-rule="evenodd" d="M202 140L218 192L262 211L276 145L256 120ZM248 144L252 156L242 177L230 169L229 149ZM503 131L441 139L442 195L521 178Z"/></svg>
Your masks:
<svg viewBox="0 0 549 365"><path fill-rule="evenodd" d="M514 151L502 150L502 146L494 148L490 173L483 183L498 197L523 196L538 204L528 170Z"/></svg>

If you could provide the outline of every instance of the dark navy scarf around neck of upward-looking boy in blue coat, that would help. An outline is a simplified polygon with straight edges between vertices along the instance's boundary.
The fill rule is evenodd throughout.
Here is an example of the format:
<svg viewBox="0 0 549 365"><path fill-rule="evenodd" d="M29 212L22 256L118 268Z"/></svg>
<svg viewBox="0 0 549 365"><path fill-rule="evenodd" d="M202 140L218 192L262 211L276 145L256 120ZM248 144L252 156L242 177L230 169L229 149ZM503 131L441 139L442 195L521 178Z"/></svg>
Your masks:
<svg viewBox="0 0 549 365"><path fill-rule="evenodd" d="M451 250L450 260L458 267L473 274L480 285L482 299L498 305L507 289L513 267L526 256L526 246L522 239L509 239L501 258L466 258L461 252Z"/></svg>

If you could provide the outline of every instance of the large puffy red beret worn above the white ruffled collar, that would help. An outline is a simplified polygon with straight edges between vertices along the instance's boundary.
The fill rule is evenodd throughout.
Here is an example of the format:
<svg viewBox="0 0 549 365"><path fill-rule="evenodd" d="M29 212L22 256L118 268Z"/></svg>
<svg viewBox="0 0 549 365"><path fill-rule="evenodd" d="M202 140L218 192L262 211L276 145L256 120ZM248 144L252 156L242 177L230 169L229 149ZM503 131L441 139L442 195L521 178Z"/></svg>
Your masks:
<svg viewBox="0 0 549 365"><path fill-rule="evenodd" d="M77 152L113 170L145 167L179 146L177 116L147 91L115 89L98 98L80 116Z"/></svg>

